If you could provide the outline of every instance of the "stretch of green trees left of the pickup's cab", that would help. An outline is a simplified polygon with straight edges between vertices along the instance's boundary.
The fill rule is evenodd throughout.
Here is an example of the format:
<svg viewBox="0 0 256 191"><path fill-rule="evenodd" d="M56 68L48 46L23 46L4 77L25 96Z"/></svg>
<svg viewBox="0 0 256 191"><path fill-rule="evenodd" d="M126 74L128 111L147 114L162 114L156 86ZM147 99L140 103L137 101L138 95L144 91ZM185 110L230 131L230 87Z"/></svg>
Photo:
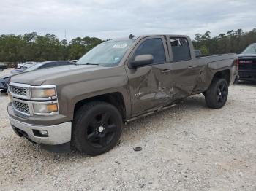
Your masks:
<svg viewBox="0 0 256 191"><path fill-rule="evenodd" d="M89 36L77 37L67 42L54 34L3 34L0 36L0 61L15 63L78 59L101 42L101 39Z"/></svg>

